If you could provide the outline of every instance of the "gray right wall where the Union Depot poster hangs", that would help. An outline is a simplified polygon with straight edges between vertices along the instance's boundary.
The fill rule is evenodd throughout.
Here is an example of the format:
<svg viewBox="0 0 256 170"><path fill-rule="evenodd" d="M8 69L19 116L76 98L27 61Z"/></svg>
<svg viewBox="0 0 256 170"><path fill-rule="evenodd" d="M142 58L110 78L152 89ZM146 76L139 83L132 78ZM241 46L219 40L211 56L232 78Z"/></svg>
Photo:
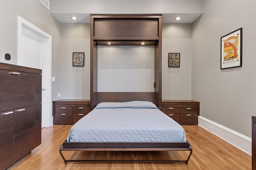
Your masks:
<svg viewBox="0 0 256 170"><path fill-rule="evenodd" d="M253 0L204 0L192 25L192 99L200 101L200 115L248 137L256 115L255 6ZM220 37L241 27L242 67L221 70Z"/></svg>

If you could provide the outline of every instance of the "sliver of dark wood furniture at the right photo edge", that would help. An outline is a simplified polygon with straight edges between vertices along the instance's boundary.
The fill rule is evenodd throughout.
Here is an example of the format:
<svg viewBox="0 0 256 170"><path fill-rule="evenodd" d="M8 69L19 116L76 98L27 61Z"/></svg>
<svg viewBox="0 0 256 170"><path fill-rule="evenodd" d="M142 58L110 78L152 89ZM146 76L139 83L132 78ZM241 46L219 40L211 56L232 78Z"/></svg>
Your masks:
<svg viewBox="0 0 256 170"><path fill-rule="evenodd" d="M256 170L256 116L252 116L252 170Z"/></svg>

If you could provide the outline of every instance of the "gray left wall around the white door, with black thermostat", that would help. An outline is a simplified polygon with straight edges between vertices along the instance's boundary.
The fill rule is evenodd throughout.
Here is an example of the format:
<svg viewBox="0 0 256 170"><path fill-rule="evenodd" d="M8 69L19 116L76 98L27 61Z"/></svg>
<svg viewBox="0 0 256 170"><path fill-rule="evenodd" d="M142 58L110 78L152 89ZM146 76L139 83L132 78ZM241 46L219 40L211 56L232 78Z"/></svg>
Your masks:
<svg viewBox="0 0 256 170"><path fill-rule="evenodd" d="M21 16L36 25L46 33L52 35L52 75L56 82L52 84L52 98L58 94L55 90L60 87L60 67L54 67L60 61L60 23L50 14L50 11L39 0L2 0L0 5L0 62L17 64L17 16ZM11 60L4 59L9 53Z"/></svg>

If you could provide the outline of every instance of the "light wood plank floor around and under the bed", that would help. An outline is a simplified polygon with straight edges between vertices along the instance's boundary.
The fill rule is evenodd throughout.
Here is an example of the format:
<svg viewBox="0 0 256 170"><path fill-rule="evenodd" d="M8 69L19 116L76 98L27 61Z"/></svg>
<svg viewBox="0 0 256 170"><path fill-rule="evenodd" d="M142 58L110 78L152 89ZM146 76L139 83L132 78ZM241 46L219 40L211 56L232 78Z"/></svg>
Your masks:
<svg viewBox="0 0 256 170"><path fill-rule="evenodd" d="M71 125L54 125L42 129L42 144L31 154L10 167L10 170L250 170L252 157L197 125L183 126L193 153L185 163L73 163L64 164L60 145L66 140ZM67 158L181 158L187 151L154 152L73 152Z"/></svg>

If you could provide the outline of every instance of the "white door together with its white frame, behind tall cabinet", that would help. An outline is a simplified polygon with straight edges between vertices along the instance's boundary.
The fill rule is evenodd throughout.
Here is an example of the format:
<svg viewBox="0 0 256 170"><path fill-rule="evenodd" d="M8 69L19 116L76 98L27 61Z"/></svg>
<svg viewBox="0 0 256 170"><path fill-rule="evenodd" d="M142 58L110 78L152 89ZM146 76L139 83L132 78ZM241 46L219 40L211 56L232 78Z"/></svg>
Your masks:
<svg viewBox="0 0 256 170"><path fill-rule="evenodd" d="M18 65L42 69L42 127L52 125L51 36L18 17Z"/></svg>

